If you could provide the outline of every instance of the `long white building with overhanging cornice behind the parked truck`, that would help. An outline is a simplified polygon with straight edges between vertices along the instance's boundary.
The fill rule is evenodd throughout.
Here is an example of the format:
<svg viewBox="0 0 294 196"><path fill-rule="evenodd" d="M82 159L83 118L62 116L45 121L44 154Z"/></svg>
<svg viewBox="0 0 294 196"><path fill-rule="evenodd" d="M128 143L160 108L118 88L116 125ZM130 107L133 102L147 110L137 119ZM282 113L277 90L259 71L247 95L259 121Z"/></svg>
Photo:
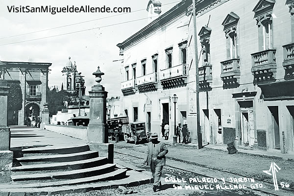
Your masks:
<svg viewBox="0 0 294 196"><path fill-rule="evenodd" d="M187 60L191 16L186 13L191 4L182 1L159 16L161 3L149 0L147 11L152 21L117 45L123 58L121 110L130 122L146 122L147 131L158 135L162 120L169 123L169 140L174 134L174 94L178 97L176 123L188 123L189 129L195 129L195 103L188 98L189 91L195 91L195 84L192 90L187 85L195 81Z"/></svg>

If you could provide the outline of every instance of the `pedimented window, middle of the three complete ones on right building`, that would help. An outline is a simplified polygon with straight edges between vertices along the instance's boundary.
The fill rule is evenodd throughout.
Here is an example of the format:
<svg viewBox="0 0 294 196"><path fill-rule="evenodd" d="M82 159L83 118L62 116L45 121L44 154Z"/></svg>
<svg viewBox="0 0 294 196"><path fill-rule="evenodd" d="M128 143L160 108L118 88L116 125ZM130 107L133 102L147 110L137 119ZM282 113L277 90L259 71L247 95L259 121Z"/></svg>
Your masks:
<svg viewBox="0 0 294 196"><path fill-rule="evenodd" d="M227 58L233 59L238 58L237 49L237 25L239 16L234 12L229 13L221 25L223 25L223 31L226 37L226 50Z"/></svg>

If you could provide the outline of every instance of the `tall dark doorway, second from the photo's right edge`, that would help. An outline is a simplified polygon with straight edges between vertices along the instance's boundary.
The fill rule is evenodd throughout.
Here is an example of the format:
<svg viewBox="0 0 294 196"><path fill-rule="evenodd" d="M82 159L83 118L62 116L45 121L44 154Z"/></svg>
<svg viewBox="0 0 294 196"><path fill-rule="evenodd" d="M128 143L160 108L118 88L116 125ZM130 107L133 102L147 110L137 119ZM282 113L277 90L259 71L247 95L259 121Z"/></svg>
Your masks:
<svg viewBox="0 0 294 196"><path fill-rule="evenodd" d="M271 114L274 148L280 149L279 108L278 106L269 106L269 109Z"/></svg>

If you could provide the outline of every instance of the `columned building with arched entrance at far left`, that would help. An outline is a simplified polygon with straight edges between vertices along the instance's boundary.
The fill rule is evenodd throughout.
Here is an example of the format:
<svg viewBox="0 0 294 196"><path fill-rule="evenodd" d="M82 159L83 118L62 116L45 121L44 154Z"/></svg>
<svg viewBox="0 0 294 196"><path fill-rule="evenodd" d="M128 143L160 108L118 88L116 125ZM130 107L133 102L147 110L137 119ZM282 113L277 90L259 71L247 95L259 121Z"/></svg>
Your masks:
<svg viewBox="0 0 294 196"><path fill-rule="evenodd" d="M42 117L43 104L47 102L49 66L51 63L1 61L1 80L13 91L8 95L8 105L17 104L9 96L20 96L17 100L21 101L19 110L8 108L8 125L27 124L29 116L32 120Z"/></svg>

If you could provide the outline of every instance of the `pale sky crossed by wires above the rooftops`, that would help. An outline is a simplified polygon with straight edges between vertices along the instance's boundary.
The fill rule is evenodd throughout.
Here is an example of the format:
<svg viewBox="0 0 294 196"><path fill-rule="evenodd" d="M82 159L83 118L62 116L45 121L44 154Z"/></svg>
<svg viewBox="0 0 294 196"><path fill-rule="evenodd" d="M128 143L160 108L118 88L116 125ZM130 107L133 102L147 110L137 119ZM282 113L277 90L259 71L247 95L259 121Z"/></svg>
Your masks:
<svg viewBox="0 0 294 196"><path fill-rule="evenodd" d="M62 68L68 58L76 62L77 71L85 79L86 95L96 83L92 75L100 67L105 73L101 84L108 92L108 97L121 95L121 59L118 43L136 33L148 24L147 3L149 0L0 0L0 60L16 62L46 62L49 67L49 86L62 84ZM171 9L180 0L160 0L162 14ZM93 7L130 7L131 13L13 13L7 6L50 5ZM141 10L141 11L137 11ZM120 14L120 15L119 15ZM108 17L108 18L105 18ZM104 19L103 19L104 18ZM97 20L98 19L98 20ZM138 19L136 22L130 22ZM94 20L94 21L91 21ZM84 21L91 21L81 23ZM125 23L128 22L128 23ZM78 25L71 25L80 23ZM124 24L120 24L124 23ZM116 25L120 24L120 25ZM69 26L65 26L69 25ZM64 27L60 27L64 26ZM60 27L60 28L54 28ZM49 28L54 28L46 30ZM87 31L66 34L90 29ZM31 33L40 31L36 33ZM30 33L30 34L26 34ZM20 35L21 36L14 36ZM61 36L55 36L66 34ZM12 37L13 36L13 37ZM54 37L50 37L54 36ZM46 39L39 39L50 37ZM27 41L39 39L34 41ZM26 42L27 41L27 42ZM21 42L21 43L15 43Z"/></svg>

